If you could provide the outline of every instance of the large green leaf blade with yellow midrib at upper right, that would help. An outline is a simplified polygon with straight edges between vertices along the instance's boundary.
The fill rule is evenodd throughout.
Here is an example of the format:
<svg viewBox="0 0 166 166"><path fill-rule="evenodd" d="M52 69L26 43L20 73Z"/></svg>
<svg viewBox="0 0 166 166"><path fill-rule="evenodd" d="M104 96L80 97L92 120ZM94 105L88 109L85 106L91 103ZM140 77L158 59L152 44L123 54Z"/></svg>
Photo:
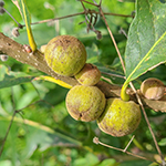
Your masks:
<svg viewBox="0 0 166 166"><path fill-rule="evenodd" d="M137 0L125 51L126 83L166 61L166 4Z"/></svg>

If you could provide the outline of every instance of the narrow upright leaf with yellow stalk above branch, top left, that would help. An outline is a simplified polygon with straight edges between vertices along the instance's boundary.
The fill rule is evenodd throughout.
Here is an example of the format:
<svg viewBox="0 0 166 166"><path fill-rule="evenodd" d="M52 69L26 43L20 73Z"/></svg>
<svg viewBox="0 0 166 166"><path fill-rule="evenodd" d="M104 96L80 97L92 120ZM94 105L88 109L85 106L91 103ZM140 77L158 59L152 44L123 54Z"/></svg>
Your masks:
<svg viewBox="0 0 166 166"><path fill-rule="evenodd" d="M32 34L32 30L31 30L31 14L27 8L25 0L12 0L12 2L18 7L18 9L21 13L21 17L25 23L29 44L30 44L32 51L35 51L37 44L35 44L33 34Z"/></svg>

